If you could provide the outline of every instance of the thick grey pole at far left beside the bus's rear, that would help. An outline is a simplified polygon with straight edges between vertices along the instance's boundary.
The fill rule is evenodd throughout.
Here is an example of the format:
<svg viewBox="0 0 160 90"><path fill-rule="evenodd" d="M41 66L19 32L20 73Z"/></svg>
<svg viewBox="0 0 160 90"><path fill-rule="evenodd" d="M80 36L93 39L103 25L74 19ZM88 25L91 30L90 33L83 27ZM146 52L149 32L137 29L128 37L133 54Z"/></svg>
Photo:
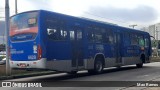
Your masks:
<svg viewBox="0 0 160 90"><path fill-rule="evenodd" d="M9 45L8 45L8 37L9 37L9 0L5 1L5 34L6 34L6 75L10 76L11 75L11 70L10 70L10 63L9 63Z"/></svg>

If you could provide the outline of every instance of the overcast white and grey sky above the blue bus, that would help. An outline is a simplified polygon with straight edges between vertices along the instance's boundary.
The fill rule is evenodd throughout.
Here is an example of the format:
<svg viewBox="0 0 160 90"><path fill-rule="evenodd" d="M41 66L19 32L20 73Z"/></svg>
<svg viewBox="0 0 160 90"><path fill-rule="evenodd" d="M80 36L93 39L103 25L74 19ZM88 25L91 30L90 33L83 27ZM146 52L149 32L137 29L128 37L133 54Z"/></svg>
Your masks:
<svg viewBox="0 0 160 90"><path fill-rule="evenodd" d="M0 0L4 8L5 0ZM14 0L10 12L14 14ZM103 20L126 26L139 27L160 22L160 0L17 0L18 12L44 9L63 14ZM0 9L2 11L2 9ZM0 13L2 16L2 14ZM1 17L0 16L0 17ZM139 28L137 27L137 28Z"/></svg>

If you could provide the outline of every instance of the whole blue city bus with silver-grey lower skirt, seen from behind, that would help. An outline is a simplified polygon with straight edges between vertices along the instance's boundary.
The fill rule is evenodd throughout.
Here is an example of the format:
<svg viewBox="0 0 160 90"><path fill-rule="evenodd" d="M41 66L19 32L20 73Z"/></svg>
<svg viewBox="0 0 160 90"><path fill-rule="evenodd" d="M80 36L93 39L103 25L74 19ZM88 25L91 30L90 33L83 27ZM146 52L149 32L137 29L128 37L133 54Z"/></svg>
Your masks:
<svg viewBox="0 0 160 90"><path fill-rule="evenodd" d="M28 11L11 17L9 34L13 69L101 73L150 62L149 33L97 20Z"/></svg>

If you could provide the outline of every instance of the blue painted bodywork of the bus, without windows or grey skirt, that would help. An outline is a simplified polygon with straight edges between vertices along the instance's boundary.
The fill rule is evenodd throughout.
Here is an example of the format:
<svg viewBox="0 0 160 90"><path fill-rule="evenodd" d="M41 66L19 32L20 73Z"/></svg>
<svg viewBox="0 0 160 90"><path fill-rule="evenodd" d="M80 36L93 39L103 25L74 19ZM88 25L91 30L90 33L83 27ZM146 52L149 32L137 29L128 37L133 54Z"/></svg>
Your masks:
<svg viewBox="0 0 160 90"><path fill-rule="evenodd" d="M35 11L31 11L35 12ZM77 18L73 16L58 14L55 12L49 12L44 10L36 11L38 12L38 34L34 40L24 41L24 42L10 42L11 48L16 49L17 51L23 50L24 53L20 54L11 54L11 59L15 61L30 61L28 60L28 55L36 55L33 53L33 45L40 45L42 47L42 58L47 58L47 60L71 60L74 57L73 42L70 40L70 31L78 27L82 30L82 42L79 42L81 46L78 46L81 50L83 59L89 59L94 57L96 53L103 53L105 57L116 58L117 55L120 57L133 57L139 56L141 53L145 53L147 56L151 55L151 40L150 35L147 32L124 28L117 25L106 24L103 22L98 22L94 20L87 20L82 18ZM24 12L21 14L26 14L29 12ZM59 23L56 23L57 21ZM50 23L49 23L50 22ZM51 23L52 22L52 23ZM88 29L90 26L96 26L98 28L104 28L104 32L112 32L113 34L113 43L103 43L102 42L89 42L88 32L91 32L92 29ZM65 40L51 40L47 35L47 28L63 28L67 31L67 36ZM59 29L60 30L60 29ZM149 40L148 47L145 47L145 51L140 50L139 45L131 45L130 34L137 34ZM119 35L119 36L117 36ZM29 34L24 35L25 38L29 39L31 36ZM115 39L119 43L115 43ZM13 38L18 40L18 36ZM108 38L107 38L108 39ZM112 39L112 38L110 38ZM117 41L118 42L118 41ZM79 52L79 51L77 51ZM37 59L37 58L36 58ZM36 60L33 59L33 60Z"/></svg>

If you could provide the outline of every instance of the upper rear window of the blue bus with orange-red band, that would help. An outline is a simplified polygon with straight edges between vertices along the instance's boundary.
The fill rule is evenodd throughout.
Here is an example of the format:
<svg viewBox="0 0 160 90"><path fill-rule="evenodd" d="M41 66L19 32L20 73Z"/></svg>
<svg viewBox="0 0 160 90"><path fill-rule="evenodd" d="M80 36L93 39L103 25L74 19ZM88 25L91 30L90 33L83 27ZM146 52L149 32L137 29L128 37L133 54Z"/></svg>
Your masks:
<svg viewBox="0 0 160 90"><path fill-rule="evenodd" d="M17 14L10 20L11 41L35 39L38 33L38 12Z"/></svg>

